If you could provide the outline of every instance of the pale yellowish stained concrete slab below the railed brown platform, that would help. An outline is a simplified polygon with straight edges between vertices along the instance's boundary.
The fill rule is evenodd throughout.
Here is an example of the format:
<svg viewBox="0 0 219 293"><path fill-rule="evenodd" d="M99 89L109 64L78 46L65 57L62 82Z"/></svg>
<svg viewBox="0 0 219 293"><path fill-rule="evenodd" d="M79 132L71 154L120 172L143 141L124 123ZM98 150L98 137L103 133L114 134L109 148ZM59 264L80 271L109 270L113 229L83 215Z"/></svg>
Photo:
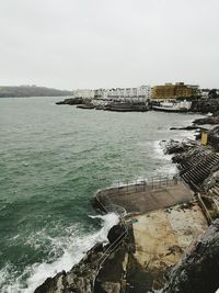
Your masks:
<svg viewBox="0 0 219 293"><path fill-rule="evenodd" d="M152 279L152 289L164 285L164 270L177 263L183 252L207 228L197 203L158 210L135 216L132 221L134 257Z"/></svg>

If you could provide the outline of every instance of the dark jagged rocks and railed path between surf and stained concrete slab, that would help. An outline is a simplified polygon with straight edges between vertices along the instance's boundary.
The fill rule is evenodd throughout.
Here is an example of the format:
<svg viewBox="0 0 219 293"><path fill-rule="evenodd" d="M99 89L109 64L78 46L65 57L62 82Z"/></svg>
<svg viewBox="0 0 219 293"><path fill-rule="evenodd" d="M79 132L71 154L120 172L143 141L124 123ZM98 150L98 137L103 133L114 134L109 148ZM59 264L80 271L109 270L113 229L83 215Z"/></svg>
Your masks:
<svg viewBox="0 0 219 293"><path fill-rule="evenodd" d="M134 249L132 234L130 227L120 222L110 230L107 237L106 246L95 245L70 271L48 278L35 293L120 292L119 280L124 274L122 263L127 251ZM118 283L115 280L118 280Z"/></svg>

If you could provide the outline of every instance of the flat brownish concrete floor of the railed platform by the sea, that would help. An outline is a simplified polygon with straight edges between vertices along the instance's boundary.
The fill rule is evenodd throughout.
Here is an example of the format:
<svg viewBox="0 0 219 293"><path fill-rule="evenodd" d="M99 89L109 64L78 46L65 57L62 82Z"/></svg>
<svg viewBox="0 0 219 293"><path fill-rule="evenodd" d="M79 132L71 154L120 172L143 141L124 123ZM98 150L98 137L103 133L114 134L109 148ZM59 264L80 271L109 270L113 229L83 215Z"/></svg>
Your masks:
<svg viewBox="0 0 219 293"><path fill-rule="evenodd" d="M120 194L115 190L115 193L99 195L99 200L103 205L119 205L127 213L146 213L188 202L192 199L192 191L183 182L155 190L148 189L143 192Z"/></svg>

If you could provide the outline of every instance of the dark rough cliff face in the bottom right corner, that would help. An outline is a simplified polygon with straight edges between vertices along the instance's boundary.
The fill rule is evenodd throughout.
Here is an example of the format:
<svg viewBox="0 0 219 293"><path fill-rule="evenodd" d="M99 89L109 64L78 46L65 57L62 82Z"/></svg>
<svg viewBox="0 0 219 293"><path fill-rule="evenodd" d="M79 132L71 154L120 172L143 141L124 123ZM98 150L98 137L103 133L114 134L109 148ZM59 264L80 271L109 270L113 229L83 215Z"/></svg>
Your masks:
<svg viewBox="0 0 219 293"><path fill-rule="evenodd" d="M215 293L219 288L219 219L168 275L162 293Z"/></svg>

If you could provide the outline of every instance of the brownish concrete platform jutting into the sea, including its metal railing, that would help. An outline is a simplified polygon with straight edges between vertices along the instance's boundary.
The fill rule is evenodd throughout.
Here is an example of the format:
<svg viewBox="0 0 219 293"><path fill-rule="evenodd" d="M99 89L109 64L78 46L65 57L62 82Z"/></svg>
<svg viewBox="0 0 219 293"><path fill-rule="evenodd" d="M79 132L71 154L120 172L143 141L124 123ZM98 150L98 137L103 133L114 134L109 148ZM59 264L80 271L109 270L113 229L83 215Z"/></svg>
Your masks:
<svg viewBox="0 0 219 293"><path fill-rule="evenodd" d="M178 179L153 178L126 185L101 190L95 194L95 205L102 212L123 209L130 213L147 213L193 200L192 191Z"/></svg>

